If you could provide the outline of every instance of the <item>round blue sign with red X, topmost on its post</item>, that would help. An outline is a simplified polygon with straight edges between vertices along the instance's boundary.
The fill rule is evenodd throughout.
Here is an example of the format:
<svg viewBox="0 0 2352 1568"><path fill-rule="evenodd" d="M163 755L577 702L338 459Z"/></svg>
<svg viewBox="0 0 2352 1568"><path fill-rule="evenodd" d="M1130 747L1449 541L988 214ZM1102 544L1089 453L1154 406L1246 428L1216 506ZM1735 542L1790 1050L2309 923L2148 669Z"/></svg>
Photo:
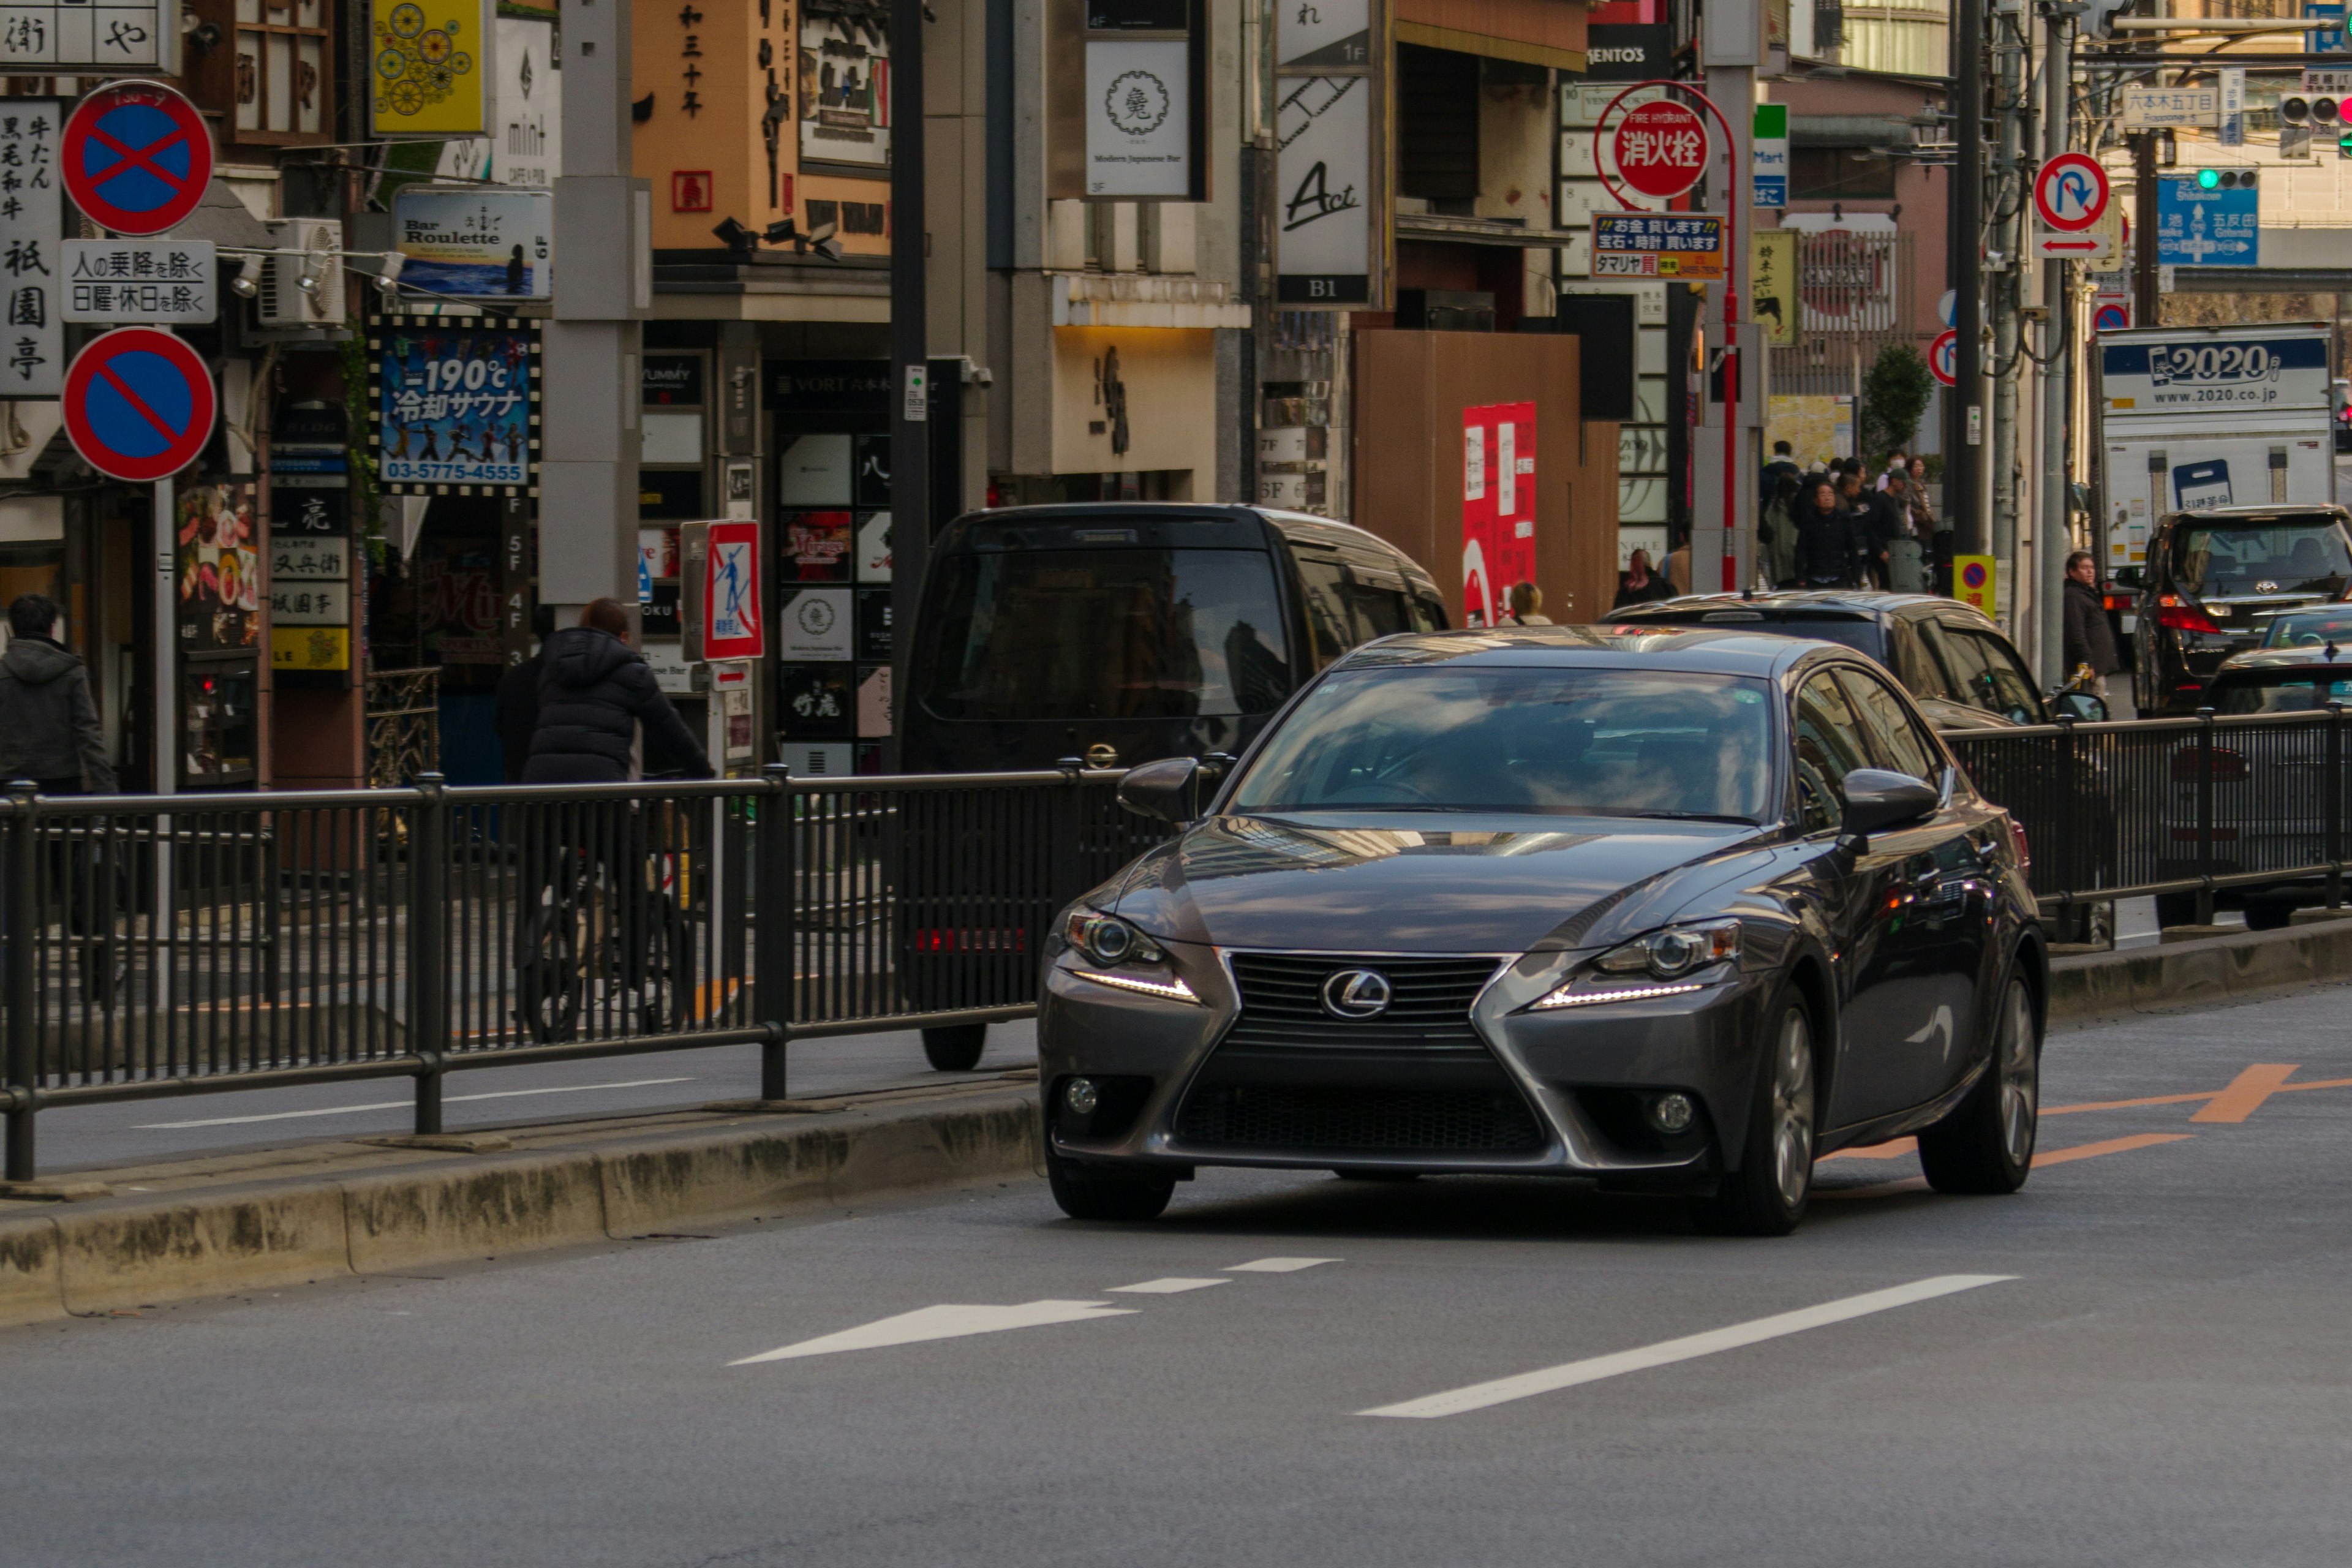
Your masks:
<svg viewBox="0 0 2352 1568"><path fill-rule="evenodd" d="M212 183L212 132L188 99L155 82L115 82L73 106L59 139L66 195L118 235L186 221Z"/></svg>

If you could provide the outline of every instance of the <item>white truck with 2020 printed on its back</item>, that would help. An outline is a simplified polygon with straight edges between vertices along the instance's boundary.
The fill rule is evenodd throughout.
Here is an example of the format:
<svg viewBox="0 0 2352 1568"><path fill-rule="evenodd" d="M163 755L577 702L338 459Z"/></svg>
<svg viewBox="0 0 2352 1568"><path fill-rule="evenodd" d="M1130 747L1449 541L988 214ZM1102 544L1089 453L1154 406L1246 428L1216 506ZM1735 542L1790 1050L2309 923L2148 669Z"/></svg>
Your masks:
<svg viewBox="0 0 2352 1568"><path fill-rule="evenodd" d="M2333 327L2136 327L2096 343L2105 576L2136 576L2164 512L2336 501Z"/></svg>

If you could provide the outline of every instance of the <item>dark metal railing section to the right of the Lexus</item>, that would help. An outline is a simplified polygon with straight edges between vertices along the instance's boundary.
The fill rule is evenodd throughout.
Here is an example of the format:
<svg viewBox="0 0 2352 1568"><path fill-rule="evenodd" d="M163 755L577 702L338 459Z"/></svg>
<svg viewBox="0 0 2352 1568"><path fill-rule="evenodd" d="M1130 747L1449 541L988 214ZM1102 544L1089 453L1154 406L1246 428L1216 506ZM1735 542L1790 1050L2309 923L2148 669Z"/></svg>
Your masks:
<svg viewBox="0 0 2352 1568"><path fill-rule="evenodd" d="M1976 788L2025 825L2044 907L2307 884L2343 905L2343 705L2312 712L1947 731Z"/></svg>

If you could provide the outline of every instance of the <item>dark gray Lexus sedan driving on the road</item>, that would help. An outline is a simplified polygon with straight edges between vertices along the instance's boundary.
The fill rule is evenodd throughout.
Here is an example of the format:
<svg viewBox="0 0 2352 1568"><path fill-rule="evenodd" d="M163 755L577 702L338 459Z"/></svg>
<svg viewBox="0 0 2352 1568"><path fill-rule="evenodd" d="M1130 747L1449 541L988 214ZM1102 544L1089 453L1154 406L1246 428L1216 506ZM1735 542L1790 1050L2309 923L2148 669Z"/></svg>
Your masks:
<svg viewBox="0 0 2352 1568"><path fill-rule="evenodd" d="M1385 637L1183 832L1054 926L1037 1018L1065 1213L1195 1166L1559 1175L1785 1234L1813 1161L1917 1133L1940 1192L2034 1152L2025 835L1867 658L1743 632Z"/></svg>

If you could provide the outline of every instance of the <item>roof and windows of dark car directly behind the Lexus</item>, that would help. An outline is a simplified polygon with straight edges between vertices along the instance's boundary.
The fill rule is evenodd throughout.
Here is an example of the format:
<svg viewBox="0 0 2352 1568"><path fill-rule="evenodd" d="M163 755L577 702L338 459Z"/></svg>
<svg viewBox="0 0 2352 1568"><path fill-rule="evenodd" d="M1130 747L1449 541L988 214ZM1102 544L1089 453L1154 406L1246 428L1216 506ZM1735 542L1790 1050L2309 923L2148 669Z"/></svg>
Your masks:
<svg viewBox="0 0 2352 1568"><path fill-rule="evenodd" d="M2016 644L1959 599L1865 590L1726 592L1642 604L1609 618L1611 625L1656 621L1844 644L1893 670L1936 729L2049 724L2058 712L2107 717L2096 696L2042 696Z"/></svg>

